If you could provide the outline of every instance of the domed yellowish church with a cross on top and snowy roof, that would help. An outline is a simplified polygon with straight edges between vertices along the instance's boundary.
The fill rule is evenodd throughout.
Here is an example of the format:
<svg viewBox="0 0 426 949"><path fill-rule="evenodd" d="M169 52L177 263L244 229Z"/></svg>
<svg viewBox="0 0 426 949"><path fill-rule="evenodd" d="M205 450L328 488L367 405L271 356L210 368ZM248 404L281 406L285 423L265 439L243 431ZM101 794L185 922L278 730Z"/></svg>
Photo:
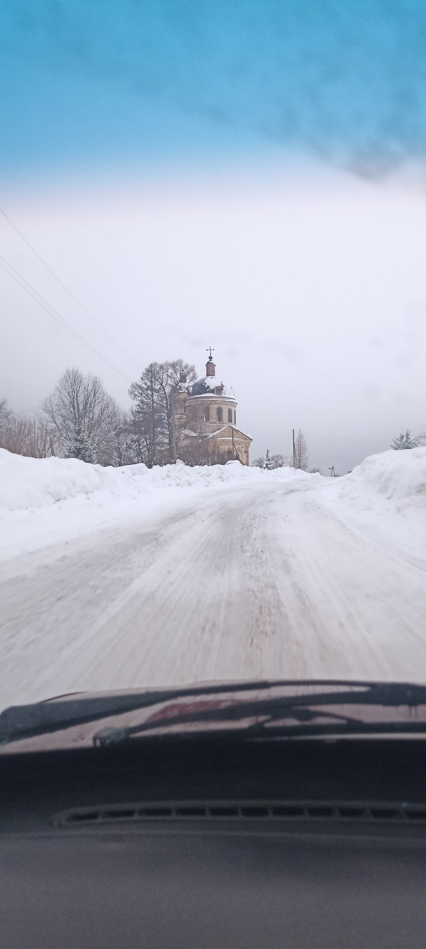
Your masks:
<svg viewBox="0 0 426 949"><path fill-rule="evenodd" d="M248 465L251 438L236 426L232 388L216 376L212 353L206 375L192 385L181 375L174 397L176 457L186 464Z"/></svg>

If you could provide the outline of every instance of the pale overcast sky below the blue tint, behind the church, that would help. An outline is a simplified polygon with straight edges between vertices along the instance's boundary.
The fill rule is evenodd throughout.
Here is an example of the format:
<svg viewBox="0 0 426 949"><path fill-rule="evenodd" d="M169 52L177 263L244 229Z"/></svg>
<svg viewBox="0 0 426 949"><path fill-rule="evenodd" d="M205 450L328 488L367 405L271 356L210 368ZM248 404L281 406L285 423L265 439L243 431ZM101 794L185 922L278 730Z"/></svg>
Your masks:
<svg viewBox="0 0 426 949"><path fill-rule="evenodd" d="M125 356L0 220L0 253L124 376L0 272L1 395L36 410L67 365L128 380L182 357L232 384L252 457L290 450L347 470L426 426L426 194L417 178L138 177L9 189L3 208ZM139 363L139 365L138 365Z"/></svg>

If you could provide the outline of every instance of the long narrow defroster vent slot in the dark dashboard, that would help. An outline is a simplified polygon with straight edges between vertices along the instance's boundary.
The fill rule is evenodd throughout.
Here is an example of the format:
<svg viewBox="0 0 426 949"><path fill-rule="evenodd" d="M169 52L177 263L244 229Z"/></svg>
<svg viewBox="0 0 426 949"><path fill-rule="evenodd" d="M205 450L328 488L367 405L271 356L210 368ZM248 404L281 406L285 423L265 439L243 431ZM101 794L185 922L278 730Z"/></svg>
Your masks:
<svg viewBox="0 0 426 949"><path fill-rule="evenodd" d="M55 827L135 824L150 821L316 820L334 822L426 821L426 805L340 801L179 801L109 805L65 810L53 818Z"/></svg>

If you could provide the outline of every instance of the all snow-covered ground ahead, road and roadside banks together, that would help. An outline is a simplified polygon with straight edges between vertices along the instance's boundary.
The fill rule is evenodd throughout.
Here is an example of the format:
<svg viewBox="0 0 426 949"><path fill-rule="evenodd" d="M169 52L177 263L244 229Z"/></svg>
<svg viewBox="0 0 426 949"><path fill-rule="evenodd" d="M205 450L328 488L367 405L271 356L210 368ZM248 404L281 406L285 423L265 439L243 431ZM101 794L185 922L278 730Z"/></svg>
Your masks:
<svg viewBox="0 0 426 949"><path fill-rule="evenodd" d="M426 681L426 448L322 478L0 451L0 707L212 679Z"/></svg>

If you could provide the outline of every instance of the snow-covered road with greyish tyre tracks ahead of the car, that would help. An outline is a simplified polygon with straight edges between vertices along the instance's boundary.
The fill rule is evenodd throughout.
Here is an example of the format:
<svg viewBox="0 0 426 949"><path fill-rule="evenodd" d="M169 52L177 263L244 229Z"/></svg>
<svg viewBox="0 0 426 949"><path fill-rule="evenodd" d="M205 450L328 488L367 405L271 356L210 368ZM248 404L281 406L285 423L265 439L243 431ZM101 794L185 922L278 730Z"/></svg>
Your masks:
<svg viewBox="0 0 426 949"><path fill-rule="evenodd" d="M321 479L187 490L5 563L1 706L201 679L426 680L426 564Z"/></svg>

